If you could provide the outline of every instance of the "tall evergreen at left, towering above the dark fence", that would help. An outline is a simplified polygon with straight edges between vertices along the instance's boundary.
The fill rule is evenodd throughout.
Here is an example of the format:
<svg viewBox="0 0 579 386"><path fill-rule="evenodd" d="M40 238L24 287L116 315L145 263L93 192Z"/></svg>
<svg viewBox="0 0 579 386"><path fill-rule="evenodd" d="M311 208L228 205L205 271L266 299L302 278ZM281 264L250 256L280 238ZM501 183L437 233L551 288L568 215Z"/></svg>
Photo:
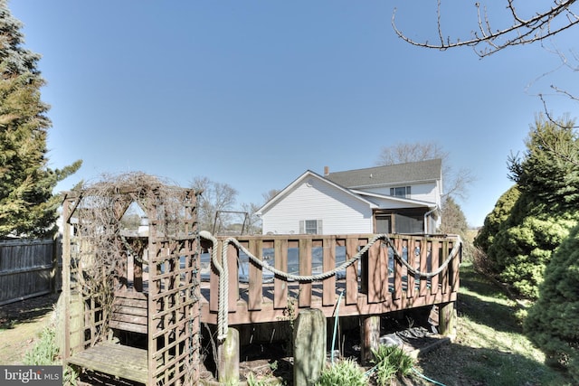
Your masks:
<svg viewBox="0 0 579 386"><path fill-rule="evenodd" d="M40 96L40 56L24 49L21 28L0 0L0 236L50 232L60 205L52 190L81 166L47 166L52 123Z"/></svg>

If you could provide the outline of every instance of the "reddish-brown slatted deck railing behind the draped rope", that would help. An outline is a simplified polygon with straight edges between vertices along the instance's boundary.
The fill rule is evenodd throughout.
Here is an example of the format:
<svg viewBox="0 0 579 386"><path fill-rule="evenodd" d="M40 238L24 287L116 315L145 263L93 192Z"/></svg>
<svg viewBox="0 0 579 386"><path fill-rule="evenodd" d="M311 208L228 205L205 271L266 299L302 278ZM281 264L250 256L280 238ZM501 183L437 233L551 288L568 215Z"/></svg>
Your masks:
<svg viewBox="0 0 579 386"><path fill-rule="evenodd" d="M236 240L273 268L311 276L355 258L375 236L268 235ZM220 259L225 241L218 238ZM453 236L388 235L375 242L355 264L320 280L273 275L248 259L241 248L228 244L226 249L228 271L233 272L227 280L229 325L287 320L289 309L297 315L304 308L321 309L327 317L380 315L454 302L459 288L460 239ZM414 274L396 254L422 273L441 271L432 277ZM217 324L219 275L213 263L204 272L201 320Z"/></svg>

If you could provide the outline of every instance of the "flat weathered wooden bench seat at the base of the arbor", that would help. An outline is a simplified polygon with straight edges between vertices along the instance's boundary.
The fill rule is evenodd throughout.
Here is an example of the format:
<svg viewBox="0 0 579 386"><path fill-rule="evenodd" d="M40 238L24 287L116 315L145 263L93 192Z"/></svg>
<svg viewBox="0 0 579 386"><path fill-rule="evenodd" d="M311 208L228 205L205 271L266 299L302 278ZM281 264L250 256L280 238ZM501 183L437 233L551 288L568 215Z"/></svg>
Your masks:
<svg viewBox="0 0 579 386"><path fill-rule="evenodd" d="M129 381L148 381L147 350L136 347L105 342L75 353L67 362Z"/></svg>

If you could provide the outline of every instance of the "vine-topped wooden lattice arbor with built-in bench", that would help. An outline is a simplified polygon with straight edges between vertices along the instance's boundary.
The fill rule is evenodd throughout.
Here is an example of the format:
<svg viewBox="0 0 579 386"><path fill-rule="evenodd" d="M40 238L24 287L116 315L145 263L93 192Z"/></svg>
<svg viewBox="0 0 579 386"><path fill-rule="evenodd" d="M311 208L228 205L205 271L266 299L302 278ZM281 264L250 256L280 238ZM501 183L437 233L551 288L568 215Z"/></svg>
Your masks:
<svg viewBox="0 0 579 386"><path fill-rule="evenodd" d="M128 383L197 384L198 195L140 181L100 189L112 219L100 226L90 215L101 210L94 191L64 194L63 360L91 376ZM133 202L147 215L147 231L121 229Z"/></svg>

